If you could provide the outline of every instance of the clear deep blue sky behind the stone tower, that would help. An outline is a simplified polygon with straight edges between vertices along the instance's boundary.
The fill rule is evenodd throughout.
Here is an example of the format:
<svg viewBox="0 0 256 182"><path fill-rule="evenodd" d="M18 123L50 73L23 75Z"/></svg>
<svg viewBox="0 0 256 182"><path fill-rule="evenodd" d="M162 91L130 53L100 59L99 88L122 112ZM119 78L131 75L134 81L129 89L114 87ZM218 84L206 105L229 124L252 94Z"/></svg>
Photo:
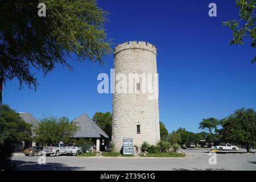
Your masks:
<svg viewBox="0 0 256 182"><path fill-rule="evenodd" d="M202 118L224 118L241 107L256 109L255 49L229 45L232 31L221 22L238 18L234 1L98 1L112 13L106 24L115 44L144 40L158 49L159 113L168 131L185 127L200 131ZM208 5L217 5L217 17L208 16ZM114 47L114 45L112 46ZM113 55L105 65L69 60L73 72L57 65L46 77L36 73L40 86L18 90L16 79L3 88L3 102L16 111L40 119L49 115L112 111L112 95L99 94L99 73L110 73Z"/></svg>

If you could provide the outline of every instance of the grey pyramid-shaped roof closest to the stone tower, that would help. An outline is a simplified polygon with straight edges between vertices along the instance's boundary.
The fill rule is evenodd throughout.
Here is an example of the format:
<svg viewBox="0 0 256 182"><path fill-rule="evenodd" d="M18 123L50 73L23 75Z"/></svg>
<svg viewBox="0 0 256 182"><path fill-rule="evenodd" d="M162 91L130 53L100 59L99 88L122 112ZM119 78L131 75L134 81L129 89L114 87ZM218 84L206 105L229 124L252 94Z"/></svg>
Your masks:
<svg viewBox="0 0 256 182"><path fill-rule="evenodd" d="M109 138L109 136L86 114L74 120L80 127L73 138Z"/></svg>

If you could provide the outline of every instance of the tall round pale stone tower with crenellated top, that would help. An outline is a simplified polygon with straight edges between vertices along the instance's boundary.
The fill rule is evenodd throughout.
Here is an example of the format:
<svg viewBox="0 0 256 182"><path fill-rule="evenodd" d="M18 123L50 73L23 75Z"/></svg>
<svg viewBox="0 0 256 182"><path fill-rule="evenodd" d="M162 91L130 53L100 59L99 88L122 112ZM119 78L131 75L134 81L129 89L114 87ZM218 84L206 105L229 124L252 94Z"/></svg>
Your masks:
<svg viewBox="0 0 256 182"><path fill-rule="evenodd" d="M133 138L133 144L139 147L144 141L156 144L160 140L156 73L153 44L130 41L114 48L112 141L115 151L122 150L123 138Z"/></svg>

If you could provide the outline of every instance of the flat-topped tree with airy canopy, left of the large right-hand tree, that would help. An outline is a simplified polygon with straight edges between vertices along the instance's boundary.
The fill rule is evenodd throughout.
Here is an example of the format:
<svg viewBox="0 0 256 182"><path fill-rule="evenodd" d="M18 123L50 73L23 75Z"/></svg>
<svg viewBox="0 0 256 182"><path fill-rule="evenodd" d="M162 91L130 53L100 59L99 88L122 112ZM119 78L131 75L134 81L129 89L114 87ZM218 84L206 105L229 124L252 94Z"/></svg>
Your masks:
<svg viewBox="0 0 256 182"><path fill-rule="evenodd" d="M218 119L207 118L207 119L203 119L203 121L199 123L199 129L208 131L211 135L213 135L213 137L217 139L218 125L220 125L220 121L218 121Z"/></svg>

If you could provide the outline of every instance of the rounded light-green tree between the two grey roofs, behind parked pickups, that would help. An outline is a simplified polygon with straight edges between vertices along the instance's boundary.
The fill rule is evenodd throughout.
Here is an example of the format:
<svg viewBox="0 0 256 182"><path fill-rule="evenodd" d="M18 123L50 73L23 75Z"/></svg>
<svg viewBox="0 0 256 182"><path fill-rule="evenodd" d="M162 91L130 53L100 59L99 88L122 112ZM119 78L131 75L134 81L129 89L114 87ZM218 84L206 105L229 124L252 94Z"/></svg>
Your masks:
<svg viewBox="0 0 256 182"><path fill-rule="evenodd" d="M79 129L77 123L69 122L67 117L43 118L34 130L34 140L43 143L59 143L72 138Z"/></svg>

